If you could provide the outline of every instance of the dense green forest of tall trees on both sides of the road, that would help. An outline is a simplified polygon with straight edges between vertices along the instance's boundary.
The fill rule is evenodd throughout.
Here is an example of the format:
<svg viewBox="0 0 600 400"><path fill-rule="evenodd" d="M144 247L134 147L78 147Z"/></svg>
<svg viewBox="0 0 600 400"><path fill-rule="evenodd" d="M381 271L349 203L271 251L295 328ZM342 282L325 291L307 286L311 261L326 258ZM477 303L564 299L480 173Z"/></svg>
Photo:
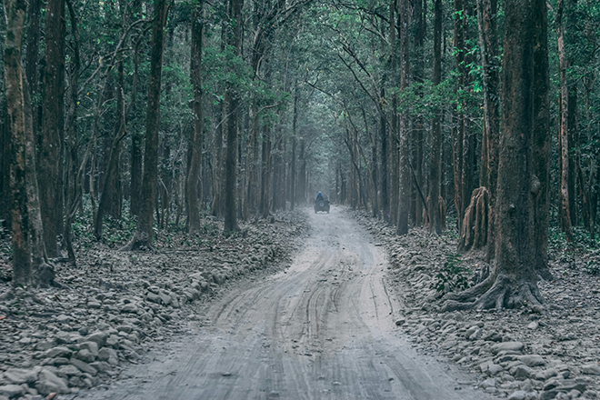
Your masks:
<svg viewBox="0 0 600 400"><path fill-rule="evenodd" d="M494 271L447 310L542 302L548 240L597 244L594 0L5 0L0 220L13 285L74 228L201 232L321 191ZM63 261L65 261L63 260Z"/></svg>

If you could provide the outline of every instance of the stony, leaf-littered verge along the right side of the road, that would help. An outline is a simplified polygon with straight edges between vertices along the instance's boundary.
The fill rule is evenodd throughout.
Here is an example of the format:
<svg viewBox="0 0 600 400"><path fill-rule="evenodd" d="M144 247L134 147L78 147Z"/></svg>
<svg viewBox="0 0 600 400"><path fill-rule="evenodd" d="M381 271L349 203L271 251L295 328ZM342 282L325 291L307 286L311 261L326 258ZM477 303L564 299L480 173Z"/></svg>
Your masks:
<svg viewBox="0 0 600 400"><path fill-rule="evenodd" d="M546 299L543 310L441 313L443 291L435 286L449 288L438 277L443 266L460 265L464 269L455 271L473 284L489 268L483 255L455 257L457 238L450 235L412 229L398 236L365 213L351 214L387 250L387 284L405 304L395 324L420 353L445 357L478 374L472 384L498 397L600 398L599 275L554 256L555 280L538 283Z"/></svg>

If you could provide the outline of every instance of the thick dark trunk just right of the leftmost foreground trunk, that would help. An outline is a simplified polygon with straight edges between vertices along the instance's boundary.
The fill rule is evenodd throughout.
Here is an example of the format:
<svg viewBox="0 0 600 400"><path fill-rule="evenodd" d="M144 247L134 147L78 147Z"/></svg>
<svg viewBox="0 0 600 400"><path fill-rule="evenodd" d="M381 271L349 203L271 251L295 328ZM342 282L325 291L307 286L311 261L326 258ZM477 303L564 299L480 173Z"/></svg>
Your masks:
<svg viewBox="0 0 600 400"><path fill-rule="evenodd" d="M58 255L56 236L63 220L62 168L65 93L65 0L48 0L45 25L45 75L42 144L39 147L38 176L44 182L40 205L44 223L45 250Z"/></svg>

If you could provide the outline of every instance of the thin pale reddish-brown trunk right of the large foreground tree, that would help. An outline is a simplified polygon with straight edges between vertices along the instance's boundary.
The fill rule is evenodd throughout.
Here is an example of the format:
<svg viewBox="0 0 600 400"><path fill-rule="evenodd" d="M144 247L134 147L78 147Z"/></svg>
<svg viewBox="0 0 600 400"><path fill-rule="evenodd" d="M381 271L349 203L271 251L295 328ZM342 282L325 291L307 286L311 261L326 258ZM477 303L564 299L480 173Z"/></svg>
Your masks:
<svg viewBox="0 0 600 400"><path fill-rule="evenodd" d="M559 154L561 160L560 172L560 221L565 231L566 240L573 242L573 228L571 226L570 198L569 198L569 140L568 140L568 86L566 82L566 55L565 55L565 29L563 26L563 14L565 0L558 0L556 4L556 36L558 42L558 60L560 73L560 121L559 121Z"/></svg>

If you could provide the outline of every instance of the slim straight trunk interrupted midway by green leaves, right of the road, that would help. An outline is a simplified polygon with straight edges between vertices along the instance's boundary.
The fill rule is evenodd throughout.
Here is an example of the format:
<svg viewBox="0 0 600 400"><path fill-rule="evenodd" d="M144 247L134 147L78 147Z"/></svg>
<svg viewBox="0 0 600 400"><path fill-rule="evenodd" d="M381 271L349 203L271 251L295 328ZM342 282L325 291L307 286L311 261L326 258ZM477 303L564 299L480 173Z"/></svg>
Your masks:
<svg viewBox="0 0 600 400"><path fill-rule="evenodd" d="M434 3L434 85L439 85L442 80L442 0ZM440 215L439 198L442 168L442 110L435 110L431 124L431 151L429 161L429 196L428 216L429 232L442 235L442 215Z"/></svg>

